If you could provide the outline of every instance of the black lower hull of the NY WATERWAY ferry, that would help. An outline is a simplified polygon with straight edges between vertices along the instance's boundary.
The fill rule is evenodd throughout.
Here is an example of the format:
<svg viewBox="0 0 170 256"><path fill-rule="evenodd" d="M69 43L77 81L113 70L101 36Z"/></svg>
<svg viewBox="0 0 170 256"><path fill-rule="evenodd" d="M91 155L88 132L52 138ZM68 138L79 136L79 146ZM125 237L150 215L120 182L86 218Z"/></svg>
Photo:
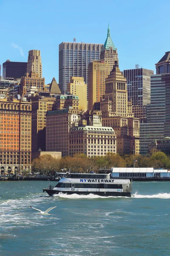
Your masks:
<svg viewBox="0 0 170 256"><path fill-rule="evenodd" d="M91 191L59 191L59 190L54 190L54 189L43 189L43 192L47 192L48 195L53 196L57 195L59 193L67 194L67 195L72 195L72 194L77 194L77 195L100 195L100 196L123 196L123 197L132 197L133 195L130 192L91 192Z"/></svg>

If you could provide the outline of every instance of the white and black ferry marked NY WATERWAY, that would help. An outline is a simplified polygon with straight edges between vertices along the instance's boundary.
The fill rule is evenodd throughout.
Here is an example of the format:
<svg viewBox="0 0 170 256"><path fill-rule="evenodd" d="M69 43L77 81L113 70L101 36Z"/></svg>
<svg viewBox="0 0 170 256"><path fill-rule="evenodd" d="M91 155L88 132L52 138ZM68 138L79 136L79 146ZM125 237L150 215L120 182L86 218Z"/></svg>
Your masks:
<svg viewBox="0 0 170 256"><path fill-rule="evenodd" d="M59 193L68 195L101 195L101 196L133 196L132 181L128 179L114 179L109 174L95 173L58 173L58 182L56 186L48 184L48 195L53 196Z"/></svg>

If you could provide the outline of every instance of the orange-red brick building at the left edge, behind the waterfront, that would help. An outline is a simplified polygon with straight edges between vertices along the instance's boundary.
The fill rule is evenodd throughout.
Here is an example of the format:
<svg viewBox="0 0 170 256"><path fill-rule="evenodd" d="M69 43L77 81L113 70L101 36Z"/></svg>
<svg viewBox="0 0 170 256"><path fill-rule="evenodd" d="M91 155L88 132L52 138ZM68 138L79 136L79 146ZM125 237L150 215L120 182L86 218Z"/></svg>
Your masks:
<svg viewBox="0 0 170 256"><path fill-rule="evenodd" d="M31 103L0 99L1 173L31 171Z"/></svg>

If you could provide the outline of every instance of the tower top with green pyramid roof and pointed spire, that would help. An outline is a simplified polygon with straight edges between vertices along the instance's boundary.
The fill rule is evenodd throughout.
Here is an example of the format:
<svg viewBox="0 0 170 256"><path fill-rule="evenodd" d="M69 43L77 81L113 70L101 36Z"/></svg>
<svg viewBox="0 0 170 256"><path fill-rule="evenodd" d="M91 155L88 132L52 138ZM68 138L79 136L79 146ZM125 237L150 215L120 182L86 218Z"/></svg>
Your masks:
<svg viewBox="0 0 170 256"><path fill-rule="evenodd" d="M109 64L110 72L113 69L115 61L119 63L117 49L114 46L113 41L111 39L109 26L108 26L108 35L107 35L105 44L101 49L100 60Z"/></svg>

